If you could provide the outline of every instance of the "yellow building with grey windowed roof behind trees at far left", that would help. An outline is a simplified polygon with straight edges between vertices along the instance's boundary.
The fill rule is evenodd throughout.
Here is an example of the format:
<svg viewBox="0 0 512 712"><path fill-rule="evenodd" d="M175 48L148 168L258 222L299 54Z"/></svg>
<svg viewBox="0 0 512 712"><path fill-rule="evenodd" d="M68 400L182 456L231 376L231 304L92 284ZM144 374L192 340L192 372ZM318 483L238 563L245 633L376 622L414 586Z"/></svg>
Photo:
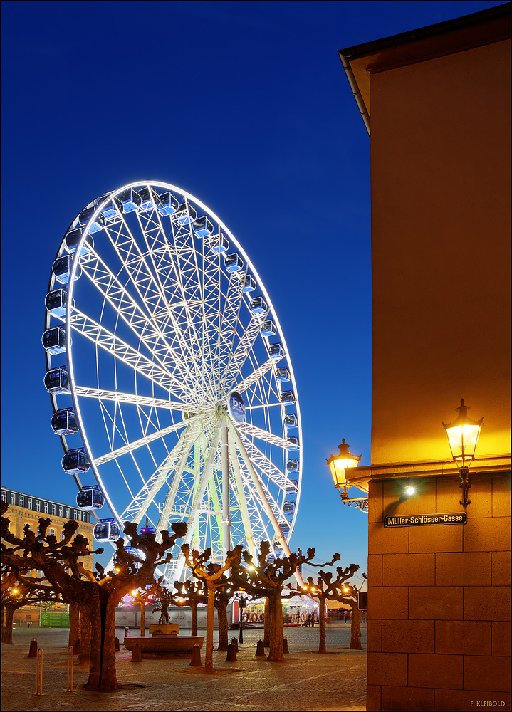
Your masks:
<svg viewBox="0 0 512 712"><path fill-rule="evenodd" d="M78 529L75 534L83 535L93 548L93 528L94 523L90 521L90 512L86 512L75 506L54 502L42 497L35 497L30 494L18 492L6 487L1 488L1 498L7 505L6 517L10 520L9 530L19 538L23 538L23 530L26 525L30 526L31 530L36 533L39 519L48 517L51 519L51 525L48 528L48 533L56 536L58 540L63 538L64 525L70 519L78 522ZM80 559L86 570L92 571L94 567L94 557L83 557ZM33 570L31 575L36 577L41 572ZM46 604L45 604L45 607ZM62 606L55 604L53 609L61 609ZM33 625L38 625L40 619L39 606L24 606L14 614L14 622L16 624L28 624L28 621Z"/></svg>

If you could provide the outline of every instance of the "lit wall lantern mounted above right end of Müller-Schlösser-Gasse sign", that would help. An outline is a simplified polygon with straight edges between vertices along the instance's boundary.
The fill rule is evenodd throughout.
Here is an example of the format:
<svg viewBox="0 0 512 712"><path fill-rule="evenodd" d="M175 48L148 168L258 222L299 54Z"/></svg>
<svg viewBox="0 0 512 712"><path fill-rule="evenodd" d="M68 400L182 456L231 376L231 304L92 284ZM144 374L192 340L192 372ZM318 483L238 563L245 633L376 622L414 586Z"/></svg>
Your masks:
<svg viewBox="0 0 512 712"><path fill-rule="evenodd" d="M471 504L468 499L468 490L471 487L469 479L469 466L471 461L475 459L476 444L479 441L481 426L484 423L484 418L480 420L471 420L468 416L469 407L464 405L464 398L461 398L461 404L456 411L458 416L451 424L442 423L446 430L448 441L451 449L451 456L459 467L459 477L461 478L462 499L460 501L463 507Z"/></svg>

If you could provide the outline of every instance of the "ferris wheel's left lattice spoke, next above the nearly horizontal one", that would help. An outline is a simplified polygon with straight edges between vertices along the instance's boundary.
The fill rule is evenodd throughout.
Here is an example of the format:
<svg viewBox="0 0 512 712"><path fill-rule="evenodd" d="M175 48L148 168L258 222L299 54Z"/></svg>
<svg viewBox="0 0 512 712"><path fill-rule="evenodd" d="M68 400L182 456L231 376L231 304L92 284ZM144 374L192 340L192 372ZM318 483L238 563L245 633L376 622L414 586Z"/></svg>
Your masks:
<svg viewBox="0 0 512 712"><path fill-rule="evenodd" d="M125 365L149 378L169 392L174 392L183 400L187 400L188 389L184 388L177 375L155 364L152 360L137 351L125 341L117 337L100 323L84 313L73 310L70 319L71 328L83 335L95 345L122 361Z"/></svg>

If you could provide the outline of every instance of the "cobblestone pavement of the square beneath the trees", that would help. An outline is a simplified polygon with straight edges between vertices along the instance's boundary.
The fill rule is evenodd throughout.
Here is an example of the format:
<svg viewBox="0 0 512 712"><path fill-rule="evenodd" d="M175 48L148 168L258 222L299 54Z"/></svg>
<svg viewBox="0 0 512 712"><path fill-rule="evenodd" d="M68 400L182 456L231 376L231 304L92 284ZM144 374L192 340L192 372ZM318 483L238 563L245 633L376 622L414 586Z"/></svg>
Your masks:
<svg viewBox="0 0 512 712"><path fill-rule="evenodd" d="M184 634L188 632L184 629ZM201 632L199 631L199 634ZM286 628L284 663L256 658L262 630L244 631L236 662L215 651L214 674L189 665L189 657L143 659L132 663L121 644L116 655L122 689L93 693L82 689L87 669L73 669L67 685L67 629L14 630L14 645L2 645L2 710L365 710L366 650L350 650L350 627L332 624L328 653L318 654L316 629ZM117 636L122 641L121 629ZM229 640L238 638L230 632ZM36 659L27 658L32 638L43 650L43 695L36 696ZM366 645L366 629L362 644ZM204 648L202 649L204 661Z"/></svg>

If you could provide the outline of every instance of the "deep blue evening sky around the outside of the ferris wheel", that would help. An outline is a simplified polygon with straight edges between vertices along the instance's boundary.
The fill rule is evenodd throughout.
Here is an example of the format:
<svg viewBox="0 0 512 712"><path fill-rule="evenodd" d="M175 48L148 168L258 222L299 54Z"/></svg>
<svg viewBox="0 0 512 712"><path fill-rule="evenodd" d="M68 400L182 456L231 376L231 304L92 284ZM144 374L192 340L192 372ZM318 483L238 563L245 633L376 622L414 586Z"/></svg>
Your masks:
<svg viewBox="0 0 512 712"><path fill-rule="evenodd" d="M281 321L303 420L291 548L366 570L366 515L325 466L343 437L370 462L370 142L337 51L498 4L2 3L4 486L75 501L43 387L51 265L85 204L161 180L231 229Z"/></svg>

